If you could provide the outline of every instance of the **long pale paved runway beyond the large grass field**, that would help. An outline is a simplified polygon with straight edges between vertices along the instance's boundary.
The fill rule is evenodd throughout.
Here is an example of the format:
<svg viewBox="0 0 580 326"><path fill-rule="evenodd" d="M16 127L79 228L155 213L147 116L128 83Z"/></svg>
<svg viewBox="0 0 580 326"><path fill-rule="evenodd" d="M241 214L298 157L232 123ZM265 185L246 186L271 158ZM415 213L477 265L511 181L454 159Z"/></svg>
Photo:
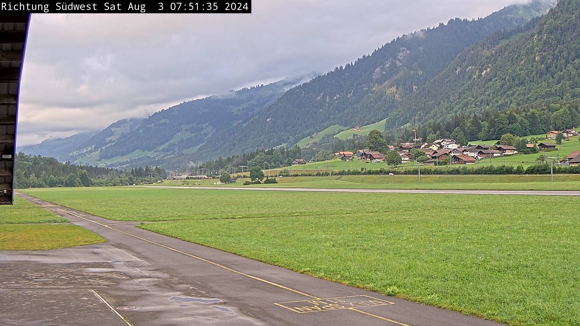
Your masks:
<svg viewBox="0 0 580 326"><path fill-rule="evenodd" d="M179 187L179 186L131 186L135 188L171 189L222 189L222 190L270 190L270 191L328 191L332 193L407 193L407 194L467 194L467 195L560 195L580 196L580 191L564 190L426 190L426 189L326 189L326 188L245 188L245 187Z"/></svg>

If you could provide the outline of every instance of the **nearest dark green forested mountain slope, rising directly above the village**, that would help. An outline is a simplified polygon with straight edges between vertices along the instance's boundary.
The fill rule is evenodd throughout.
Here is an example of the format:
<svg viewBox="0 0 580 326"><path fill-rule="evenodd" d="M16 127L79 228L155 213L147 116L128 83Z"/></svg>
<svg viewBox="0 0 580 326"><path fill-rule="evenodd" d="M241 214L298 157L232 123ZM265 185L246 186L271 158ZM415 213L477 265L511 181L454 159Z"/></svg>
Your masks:
<svg viewBox="0 0 580 326"><path fill-rule="evenodd" d="M400 100L389 114L389 125L579 97L579 26L580 1L560 0L542 19L512 32L496 32Z"/></svg>

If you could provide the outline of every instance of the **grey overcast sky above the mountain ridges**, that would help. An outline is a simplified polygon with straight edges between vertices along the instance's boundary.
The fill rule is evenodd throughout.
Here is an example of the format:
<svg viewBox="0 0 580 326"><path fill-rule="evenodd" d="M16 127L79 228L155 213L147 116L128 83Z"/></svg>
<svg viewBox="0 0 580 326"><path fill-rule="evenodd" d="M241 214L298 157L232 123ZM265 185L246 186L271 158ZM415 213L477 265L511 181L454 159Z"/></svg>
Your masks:
<svg viewBox="0 0 580 326"><path fill-rule="evenodd" d="M32 15L19 146L325 73L398 35L527 0L253 0L251 14Z"/></svg>

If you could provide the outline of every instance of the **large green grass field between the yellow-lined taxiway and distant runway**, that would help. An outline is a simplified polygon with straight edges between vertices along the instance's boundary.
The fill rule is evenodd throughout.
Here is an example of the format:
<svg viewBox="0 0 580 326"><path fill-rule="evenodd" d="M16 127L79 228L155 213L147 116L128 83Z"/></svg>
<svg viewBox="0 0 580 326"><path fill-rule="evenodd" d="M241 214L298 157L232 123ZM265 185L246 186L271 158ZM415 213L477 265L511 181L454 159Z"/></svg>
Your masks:
<svg viewBox="0 0 580 326"><path fill-rule="evenodd" d="M108 219L171 220L140 227L462 313L513 325L580 323L576 197L153 187L25 192Z"/></svg>

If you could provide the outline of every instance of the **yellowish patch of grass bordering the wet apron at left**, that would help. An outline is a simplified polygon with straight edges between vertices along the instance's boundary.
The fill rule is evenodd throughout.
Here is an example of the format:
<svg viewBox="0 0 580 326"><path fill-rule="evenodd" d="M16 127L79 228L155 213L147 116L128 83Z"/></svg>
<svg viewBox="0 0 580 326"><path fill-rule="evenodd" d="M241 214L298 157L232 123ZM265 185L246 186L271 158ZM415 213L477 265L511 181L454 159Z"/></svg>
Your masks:
<svg viewBox="0 0 580 326"><path fill-rule="evenodd" d="M0 225L0 250L48 250L106 241L89 230L71 224Z"/></svg>

